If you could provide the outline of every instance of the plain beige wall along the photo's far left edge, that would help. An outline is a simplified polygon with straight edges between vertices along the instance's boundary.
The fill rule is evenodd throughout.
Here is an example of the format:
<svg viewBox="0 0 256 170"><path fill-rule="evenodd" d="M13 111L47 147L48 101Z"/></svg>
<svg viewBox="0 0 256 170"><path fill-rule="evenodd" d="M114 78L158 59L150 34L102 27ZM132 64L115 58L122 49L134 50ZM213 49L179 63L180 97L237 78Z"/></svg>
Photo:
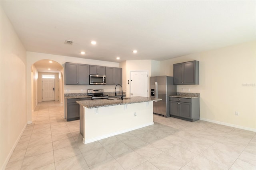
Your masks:
<svg viewBox="0 0 256 170"><path fill-rule="evenodd" d="M0 13L0 168L4 169L26 127L26 49L2 8Z"/></svg>

